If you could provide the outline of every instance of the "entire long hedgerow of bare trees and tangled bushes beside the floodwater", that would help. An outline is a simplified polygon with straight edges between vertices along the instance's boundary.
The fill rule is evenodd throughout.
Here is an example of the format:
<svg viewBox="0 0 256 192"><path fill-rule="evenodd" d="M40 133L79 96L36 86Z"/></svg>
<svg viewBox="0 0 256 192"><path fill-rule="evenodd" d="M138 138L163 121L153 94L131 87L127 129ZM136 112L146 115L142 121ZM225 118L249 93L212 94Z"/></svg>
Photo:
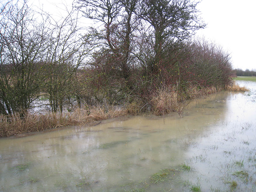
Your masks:
<svg viewBox="0 0 256 192"><path fill-rule="evenodd" d="M59 20L27 4L0 11L5 124L38 106L60 114L83 108L89 116L103 101L126 114L181 114L189 100L232 84L229 54L194 38L205 27L198 2L78 0ZM80 14L95 25L79 27Z"/></svg>

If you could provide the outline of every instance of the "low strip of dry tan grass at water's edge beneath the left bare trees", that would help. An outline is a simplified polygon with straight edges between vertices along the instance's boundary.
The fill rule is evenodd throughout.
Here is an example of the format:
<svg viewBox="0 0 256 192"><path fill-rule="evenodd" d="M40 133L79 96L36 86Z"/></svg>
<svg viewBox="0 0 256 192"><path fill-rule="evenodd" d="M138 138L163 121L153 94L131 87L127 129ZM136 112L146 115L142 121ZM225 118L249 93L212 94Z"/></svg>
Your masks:
<svg viewBox="0 0 256 192"><path fill-rule="evenodd" d="M72 113L63 114L27 114L24 118L20 118L18 114L12 116L0 115L0 137L9 137L26 132L39 132L68 125L84 125L93 121L127 115L126 110L114 107L110 107L107 113L101 107L92 108L90 112L90 115L88 115L87 110L77 109Z"/></svg>

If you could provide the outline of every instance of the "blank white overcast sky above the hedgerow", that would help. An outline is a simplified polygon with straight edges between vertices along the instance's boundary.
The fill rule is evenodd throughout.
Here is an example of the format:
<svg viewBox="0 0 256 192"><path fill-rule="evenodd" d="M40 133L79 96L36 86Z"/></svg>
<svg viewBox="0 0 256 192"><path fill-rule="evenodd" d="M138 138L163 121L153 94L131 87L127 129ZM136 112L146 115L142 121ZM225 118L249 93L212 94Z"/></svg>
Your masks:
<svg viewBox="0 0 256 192"><path fill-rule="evenodd" d="M30 0L54 15L61 14L73 0ZM42 3L43 2L43 3ZM57 5L56 6L54 6ZM220 45L230 53L233 68L256 71L256 1L254 0L201 0L197 9L207 27L197 31L196 36Z"/></svg>

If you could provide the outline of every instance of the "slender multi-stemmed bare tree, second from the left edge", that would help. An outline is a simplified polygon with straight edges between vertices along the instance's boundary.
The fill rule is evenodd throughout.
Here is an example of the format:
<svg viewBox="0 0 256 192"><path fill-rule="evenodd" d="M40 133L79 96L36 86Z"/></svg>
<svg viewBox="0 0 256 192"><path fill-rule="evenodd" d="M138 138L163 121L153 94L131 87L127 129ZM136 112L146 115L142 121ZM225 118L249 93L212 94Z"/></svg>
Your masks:
<svg viewBox="0 0 256 192"><path fill-rule="evenodd" d="M88 36L78 34L77 12L67 10L67 16L61 20L51 18L51 35L47 55L48 77L45 91L52 112L63 111L65 101L70 101L73 75L76 73L90 51L87 47Z"/></svg>

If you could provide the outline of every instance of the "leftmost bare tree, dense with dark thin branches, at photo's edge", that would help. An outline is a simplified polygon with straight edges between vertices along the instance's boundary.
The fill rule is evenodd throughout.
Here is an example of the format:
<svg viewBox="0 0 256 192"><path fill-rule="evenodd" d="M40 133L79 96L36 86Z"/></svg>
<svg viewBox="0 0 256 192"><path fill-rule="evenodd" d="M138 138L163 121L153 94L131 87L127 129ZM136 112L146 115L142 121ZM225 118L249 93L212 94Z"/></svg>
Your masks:
<svg viewBox="0 0 256 192"><path fill-rule="evenodd" d="M48 28L37 23L27 1L1 9L0 113L23 114L38 97Z"/></svg>

